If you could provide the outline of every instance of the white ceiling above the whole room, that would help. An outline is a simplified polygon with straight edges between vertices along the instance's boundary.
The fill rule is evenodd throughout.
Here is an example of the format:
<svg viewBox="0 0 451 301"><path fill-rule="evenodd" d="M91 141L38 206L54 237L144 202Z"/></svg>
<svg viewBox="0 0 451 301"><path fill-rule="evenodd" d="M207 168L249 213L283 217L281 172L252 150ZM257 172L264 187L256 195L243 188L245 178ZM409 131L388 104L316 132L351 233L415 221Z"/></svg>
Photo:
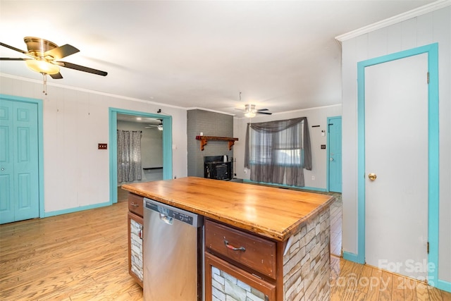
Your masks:
<svg viewBox="0 0 451 301"><path fill-rule="evenodd" d="M0 42L71 44L80 52L62 61L109 73L61 68L50 86L226 113L249 102L292 111L341 103L336 36L431 2L0 0ZM0 57L25 56L0 47ZM23 61L1 61L0 73L42 80Z"/></svg>

